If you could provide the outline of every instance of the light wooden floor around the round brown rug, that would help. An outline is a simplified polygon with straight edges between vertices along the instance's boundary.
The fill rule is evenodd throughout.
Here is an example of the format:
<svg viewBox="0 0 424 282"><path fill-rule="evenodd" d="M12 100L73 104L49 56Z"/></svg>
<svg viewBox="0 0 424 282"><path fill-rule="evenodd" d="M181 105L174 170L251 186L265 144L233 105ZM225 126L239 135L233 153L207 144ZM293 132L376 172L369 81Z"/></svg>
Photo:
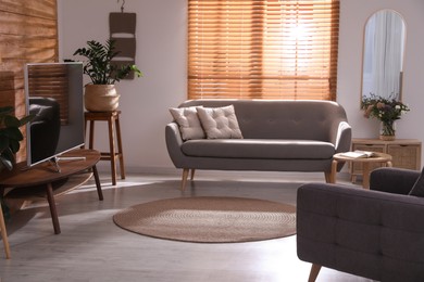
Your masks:
<svg viewBox="0 0 424 282"><path fill-rule="evenodd" d="M197 176L186 192L179 177L130 175L117 187L101 174L104 201L90 182L57 200L62 233L53 234L47 203L37 202L8 222L12 259L0 244L0 281L307 281L310 265L296 255L296 236L236 243L182 243L141 236L117 228L120 209L159 198L225 195L296 204L303 182L321 174ZM323 268L317 281L370 281Z"/></svg>

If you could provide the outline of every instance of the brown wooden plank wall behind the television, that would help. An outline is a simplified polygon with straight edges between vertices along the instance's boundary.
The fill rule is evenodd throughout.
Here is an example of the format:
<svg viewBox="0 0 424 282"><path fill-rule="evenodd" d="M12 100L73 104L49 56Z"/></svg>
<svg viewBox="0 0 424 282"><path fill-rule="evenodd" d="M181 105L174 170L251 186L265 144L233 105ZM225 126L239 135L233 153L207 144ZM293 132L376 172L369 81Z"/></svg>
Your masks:
<svg viewBox="0 0 424 282"><path fill-rule="evenodd" d="M25 115L25 63L58 62L55 0L0 0L0 106ZM22 144L17 161L26 155Z"/></svg>

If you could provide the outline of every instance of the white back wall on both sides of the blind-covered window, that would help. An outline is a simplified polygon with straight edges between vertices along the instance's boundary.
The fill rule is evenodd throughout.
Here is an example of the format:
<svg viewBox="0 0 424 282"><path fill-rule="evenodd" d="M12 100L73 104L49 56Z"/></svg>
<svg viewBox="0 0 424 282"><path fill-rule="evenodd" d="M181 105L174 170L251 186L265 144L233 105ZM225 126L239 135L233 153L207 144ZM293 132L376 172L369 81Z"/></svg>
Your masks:
<svg viewBox="0 0 424 282"><path fill-rule="evenodd" d="M121 7L115 0L58 3L61 57L71 57L87 40L105 40L109 13ZM186 5L187 0L126 0L125 12L137 13L136 62L145 73L117 86L127 171L174 171L164 127L171 120L167 108L186 99ZM377 120L365 119L359 105L364 24L381 9L394 9L407 22L403 101L412 111L397 123L397 134L424 140L423 0L341 0L337 100L347 111L353 137L377 137ZM105 127L97 127L96 141L99 149L107 148Z"/></svg>

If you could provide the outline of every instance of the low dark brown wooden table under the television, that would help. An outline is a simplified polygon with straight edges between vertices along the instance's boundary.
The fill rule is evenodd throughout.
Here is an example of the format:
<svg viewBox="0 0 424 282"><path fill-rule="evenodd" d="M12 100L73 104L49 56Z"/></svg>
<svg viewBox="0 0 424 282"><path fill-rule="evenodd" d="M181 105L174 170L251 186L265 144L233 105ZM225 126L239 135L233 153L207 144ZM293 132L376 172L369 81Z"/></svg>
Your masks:
<svg viewBox="0 0 424 282"><path fill-rule="evenodd" d="M96 168L96 164L100 161L100 153L95 150L74 150L62 155L63 157L85 157L84 161L61 161L61 172L57 172L54 167L49 163L41 163L34 167L23 169L25 164L17 164L12 171L7 171L0 178L0 189L15 188L15 189L32 189L45 185L47 201L50 207L51 220L53 222L53 229L55 234L61 233L58 210L55 207L52 183L66 179L70 176L83 172L88 169L92 169L92 174L96 180L97 193L99 200L103 200L101 191L99 174Z"/></svg>

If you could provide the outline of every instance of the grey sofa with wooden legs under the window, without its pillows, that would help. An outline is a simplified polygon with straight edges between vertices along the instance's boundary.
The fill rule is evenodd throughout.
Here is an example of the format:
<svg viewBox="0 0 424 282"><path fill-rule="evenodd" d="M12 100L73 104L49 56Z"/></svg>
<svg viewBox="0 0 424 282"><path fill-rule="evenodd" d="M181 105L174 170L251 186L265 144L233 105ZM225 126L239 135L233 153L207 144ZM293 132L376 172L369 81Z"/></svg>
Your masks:
<svg viewBox="0 0 424 282"><path fill-rule="evenodd" d="M166 146L189 170L323 171L329 180L332 157L349 151L351 128L345 110L331 101L191 100L179 107L234 105L242 139L184 141L174 121L166 125ZM341 166L338 167L340 169Z"/></svg>

